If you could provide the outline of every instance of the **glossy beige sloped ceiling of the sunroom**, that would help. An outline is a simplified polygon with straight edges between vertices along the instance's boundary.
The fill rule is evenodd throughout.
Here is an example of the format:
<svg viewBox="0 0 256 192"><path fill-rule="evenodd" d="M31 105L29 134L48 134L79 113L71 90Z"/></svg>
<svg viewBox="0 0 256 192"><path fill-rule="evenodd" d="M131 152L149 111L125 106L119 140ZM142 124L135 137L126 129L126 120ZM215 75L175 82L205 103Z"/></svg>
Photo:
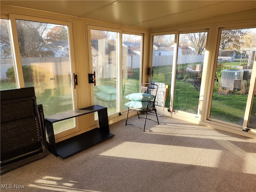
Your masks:
<svg viewBox="0 0 256 192"><path fill-rule="evenodd" d="M256 0L1 0L0 3L147 29L256 8Z"/></svg>

